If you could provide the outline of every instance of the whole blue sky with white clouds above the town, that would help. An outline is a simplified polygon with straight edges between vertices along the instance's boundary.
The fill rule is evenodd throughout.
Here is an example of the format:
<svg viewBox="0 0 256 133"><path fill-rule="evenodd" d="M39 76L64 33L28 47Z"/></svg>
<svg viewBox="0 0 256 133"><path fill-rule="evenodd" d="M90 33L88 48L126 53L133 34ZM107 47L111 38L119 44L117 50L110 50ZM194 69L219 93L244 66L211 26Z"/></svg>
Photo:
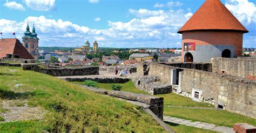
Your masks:
<svg viewBox="0 0 256 133"><path fill-rule="evenodd" d="M3 38L22 40L35 23L39 47L181 47L177 31L205 0L0 0ZM244 47L256 48L256 2L221 0L250 33Z"/></svg>

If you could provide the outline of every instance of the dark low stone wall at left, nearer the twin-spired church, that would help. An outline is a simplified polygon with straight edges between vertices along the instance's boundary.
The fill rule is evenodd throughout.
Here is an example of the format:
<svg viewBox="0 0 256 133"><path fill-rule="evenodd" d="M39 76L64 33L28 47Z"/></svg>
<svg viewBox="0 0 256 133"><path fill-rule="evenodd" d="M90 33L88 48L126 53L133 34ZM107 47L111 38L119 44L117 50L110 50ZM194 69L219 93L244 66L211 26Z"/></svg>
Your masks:
<svg viewBox="0 0 256 133"><path fill-rule="evenodd" d="M83 75L99 75L99 67L83 67L83 68L40 68L35 70L51 76L83 76Z"/></svg>

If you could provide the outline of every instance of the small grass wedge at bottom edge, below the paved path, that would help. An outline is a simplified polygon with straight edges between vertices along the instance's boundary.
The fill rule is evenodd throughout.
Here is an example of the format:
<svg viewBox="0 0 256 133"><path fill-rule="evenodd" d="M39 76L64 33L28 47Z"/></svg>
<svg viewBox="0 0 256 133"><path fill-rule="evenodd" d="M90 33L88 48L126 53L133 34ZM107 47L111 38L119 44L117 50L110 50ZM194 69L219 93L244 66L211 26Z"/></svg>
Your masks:
<svg viewBox="0 0 256 133"><path fill-rule="evenodd" d="M201 129L201 128L194 128L186 125L180 125L180 124L175 124L175 123L170 123L170 122L165 122L167 125L169 125L170 128L174 130L174 132L204 132L204 133L213 133L215 131L211 130L206 130L206 129Z"/></svg>

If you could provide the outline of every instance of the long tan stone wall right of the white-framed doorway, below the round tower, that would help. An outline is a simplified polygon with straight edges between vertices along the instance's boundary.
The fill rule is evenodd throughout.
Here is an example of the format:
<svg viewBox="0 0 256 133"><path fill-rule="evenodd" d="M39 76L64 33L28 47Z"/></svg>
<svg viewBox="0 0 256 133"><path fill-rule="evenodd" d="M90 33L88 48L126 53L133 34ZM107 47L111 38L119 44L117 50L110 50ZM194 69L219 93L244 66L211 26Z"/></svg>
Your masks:
<svg viewBox="0 0 256 133"><path fill-rule="evenodd" d="M256 82L215 72L184 69L181 91L199 92L198 101L211 101L216 107L242 115L256 117ZM194 98L193 98L194 97Z"/></svg>

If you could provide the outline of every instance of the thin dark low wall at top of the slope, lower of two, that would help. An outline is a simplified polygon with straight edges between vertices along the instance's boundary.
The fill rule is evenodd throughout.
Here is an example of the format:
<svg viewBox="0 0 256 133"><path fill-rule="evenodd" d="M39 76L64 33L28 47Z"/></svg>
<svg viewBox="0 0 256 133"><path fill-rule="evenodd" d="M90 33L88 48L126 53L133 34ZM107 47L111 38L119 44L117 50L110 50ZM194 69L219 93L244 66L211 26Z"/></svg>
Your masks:
<svg viewBox="0 0 256 133"><path fill-rule="evenodd" d="M118 77L99 77L99 78L65 78L69 82L84 82L85 80L92 80L99 83L126 83L129 82L129 78Z"/></svg>

